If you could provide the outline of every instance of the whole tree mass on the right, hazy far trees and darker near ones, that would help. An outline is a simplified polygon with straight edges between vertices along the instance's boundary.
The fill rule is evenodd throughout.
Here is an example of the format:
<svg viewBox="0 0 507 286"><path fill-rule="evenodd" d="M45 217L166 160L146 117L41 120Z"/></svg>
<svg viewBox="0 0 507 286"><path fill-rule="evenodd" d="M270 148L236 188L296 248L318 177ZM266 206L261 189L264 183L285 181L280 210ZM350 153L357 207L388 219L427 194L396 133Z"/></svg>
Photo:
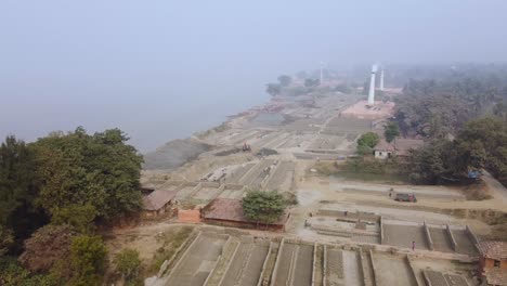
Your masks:
<svg viewBox="0 0 507 286"><path fill-rule="evenodd" d="M411 178L463 182L484 168L507 184L507 68L466 65L433 73L433 79L410 79L396 98L394 120L403 135L428 142L413 152Z"/></svg>

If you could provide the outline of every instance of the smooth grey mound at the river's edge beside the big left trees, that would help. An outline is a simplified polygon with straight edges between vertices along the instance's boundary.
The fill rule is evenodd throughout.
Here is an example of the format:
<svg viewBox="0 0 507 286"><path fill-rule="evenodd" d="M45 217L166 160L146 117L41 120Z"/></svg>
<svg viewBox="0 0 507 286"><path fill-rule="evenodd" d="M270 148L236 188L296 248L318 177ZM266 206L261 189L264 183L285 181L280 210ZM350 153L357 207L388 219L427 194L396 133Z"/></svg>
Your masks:
<svg viewBox="0 0 507 286"><path fill-rule="evenodd" d="M143 169L171 170L197 158L202 153L211 150L211 145L194 139L177 139L144 155Z"/></svg>

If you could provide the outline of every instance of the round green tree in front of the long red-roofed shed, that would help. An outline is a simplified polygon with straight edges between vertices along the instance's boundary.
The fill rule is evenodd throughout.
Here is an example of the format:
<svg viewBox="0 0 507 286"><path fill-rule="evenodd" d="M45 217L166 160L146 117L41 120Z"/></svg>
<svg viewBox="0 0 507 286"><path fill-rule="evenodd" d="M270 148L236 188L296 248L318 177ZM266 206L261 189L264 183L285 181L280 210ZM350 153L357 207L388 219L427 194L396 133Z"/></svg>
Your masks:
<svg viewBox="0 0 507 286"><path fill-rule="evenodd" d="M245 218L257 223L275 222L284 213L285 206L283 196L276 191L252 191L243 198Z"/></svg>

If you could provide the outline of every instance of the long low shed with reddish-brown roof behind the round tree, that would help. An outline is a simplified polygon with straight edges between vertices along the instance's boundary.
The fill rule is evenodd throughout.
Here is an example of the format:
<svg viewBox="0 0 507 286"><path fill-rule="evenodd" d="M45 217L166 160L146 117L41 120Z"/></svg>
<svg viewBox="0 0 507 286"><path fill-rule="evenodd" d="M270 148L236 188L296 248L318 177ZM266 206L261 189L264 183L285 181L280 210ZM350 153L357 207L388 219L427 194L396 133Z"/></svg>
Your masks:
<svg viewBox="0 0 507 286"><path fill-rule="evenodd" d="M276 222L258 224L245 218L242 200L232 198L217 198L212 200L203 208L202 217L204 222L210 224L246 229L255 229L259 225L262 229L278 231L285 229L285 223L288 220L288 213L284 213Z"/></svg>

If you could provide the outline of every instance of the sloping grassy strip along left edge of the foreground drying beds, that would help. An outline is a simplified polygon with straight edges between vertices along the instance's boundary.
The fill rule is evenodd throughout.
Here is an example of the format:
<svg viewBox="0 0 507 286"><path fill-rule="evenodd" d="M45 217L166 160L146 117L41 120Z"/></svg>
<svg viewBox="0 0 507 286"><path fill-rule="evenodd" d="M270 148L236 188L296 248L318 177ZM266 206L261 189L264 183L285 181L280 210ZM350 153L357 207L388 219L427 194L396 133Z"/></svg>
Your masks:
<svg viewBox="0 0 507 286"><path fill-rule="evenodd" d="M147 276L156 274L164 261L171 259L176 250L188 238L193 230L193 226L183 226L177 232L168 231L157 234L156 239L162 243L162 246L153 256L152 263L147 269Z"/></svg>

